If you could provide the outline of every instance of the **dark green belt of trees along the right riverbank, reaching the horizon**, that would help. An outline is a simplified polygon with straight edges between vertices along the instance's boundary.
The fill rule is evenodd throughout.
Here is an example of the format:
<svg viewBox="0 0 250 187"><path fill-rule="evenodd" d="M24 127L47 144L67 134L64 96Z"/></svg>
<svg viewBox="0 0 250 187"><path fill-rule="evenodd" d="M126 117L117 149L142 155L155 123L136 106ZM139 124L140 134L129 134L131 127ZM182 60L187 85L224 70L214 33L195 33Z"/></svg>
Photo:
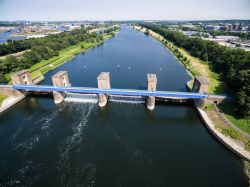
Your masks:
<svg viewBox="0 0 250 187"><path fill-rule="evenodd" d="M159 33L178 47L209 63L235 96L238 113L250 116L250 52L220 46L216 42L198 37L187 37L161 25L143 23L141 26Z"/></svg>

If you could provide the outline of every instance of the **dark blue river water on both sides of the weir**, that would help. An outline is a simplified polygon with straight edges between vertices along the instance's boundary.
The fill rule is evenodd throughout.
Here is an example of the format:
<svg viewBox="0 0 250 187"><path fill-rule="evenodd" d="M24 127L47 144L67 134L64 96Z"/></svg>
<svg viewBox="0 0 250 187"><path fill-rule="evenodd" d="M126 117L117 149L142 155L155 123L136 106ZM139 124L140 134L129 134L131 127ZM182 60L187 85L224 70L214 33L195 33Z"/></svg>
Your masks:
<svg viewBox="0 0 250 187"><path fill-rule="evenodd" d="M73 86L185 91L190 79L158 41L122 26L114 38L47 73ZM247 186L241 160L207 131L192 106L96 104L28 97L0 116L0 183L6 186Z"/></svg>

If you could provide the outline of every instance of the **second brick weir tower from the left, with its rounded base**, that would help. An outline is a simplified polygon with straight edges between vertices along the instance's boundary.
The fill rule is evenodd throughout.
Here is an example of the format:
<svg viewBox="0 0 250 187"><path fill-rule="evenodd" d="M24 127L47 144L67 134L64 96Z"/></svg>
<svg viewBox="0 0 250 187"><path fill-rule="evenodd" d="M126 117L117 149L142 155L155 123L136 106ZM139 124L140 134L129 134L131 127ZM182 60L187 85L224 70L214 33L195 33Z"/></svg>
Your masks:
<svg viewBox="0 0 250 187"><path fill-rule="evenodd" d="M71 86L67 71L59 71L52 76L54 86ZM53 91L54 102L61 103L65 97L65 93Z"/></svg>

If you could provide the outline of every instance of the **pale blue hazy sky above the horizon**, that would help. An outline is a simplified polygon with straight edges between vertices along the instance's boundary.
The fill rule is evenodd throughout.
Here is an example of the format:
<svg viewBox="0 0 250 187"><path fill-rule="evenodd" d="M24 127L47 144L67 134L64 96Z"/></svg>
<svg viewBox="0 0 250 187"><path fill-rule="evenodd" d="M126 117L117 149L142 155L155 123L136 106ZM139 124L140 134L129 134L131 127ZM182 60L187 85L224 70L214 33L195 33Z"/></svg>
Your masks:
<svg viewBox="0 0 250 187"><path fill-rule="evenodd" d="M0 0L1 21L250 19L250 0Z"/></svg>

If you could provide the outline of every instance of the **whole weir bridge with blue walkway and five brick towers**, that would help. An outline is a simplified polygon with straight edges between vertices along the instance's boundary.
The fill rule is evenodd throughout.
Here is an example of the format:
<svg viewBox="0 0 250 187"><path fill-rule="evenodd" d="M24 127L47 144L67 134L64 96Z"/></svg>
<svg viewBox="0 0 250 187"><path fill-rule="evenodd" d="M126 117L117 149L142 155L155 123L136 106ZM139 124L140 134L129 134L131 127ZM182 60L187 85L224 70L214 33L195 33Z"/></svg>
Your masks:
<svg viewBox="0 0 250 187"><path fill-rule="evenodd" d="M204 106L210 99L225 99L225 96L208 95L208 81L204 78L195 78L191 92L157 91L157 77L155 74L147 75L148 90L135 89L115 89L110 86L109 72L102 72L97 78L97 88L72 87L66 71L60 71L52 76L53 85L34 85L28 71L21 71L12 75L13 85L0 86L0 94L11 95L13 97L27 95L28 93L46 92L53 93L56 104L61 103L66 93L97 94L99 106L107 104L109 95L119 96L142 96L146 98L147 108L153 110L155 98L172 100L194 100L197 105Z"/></svg>

